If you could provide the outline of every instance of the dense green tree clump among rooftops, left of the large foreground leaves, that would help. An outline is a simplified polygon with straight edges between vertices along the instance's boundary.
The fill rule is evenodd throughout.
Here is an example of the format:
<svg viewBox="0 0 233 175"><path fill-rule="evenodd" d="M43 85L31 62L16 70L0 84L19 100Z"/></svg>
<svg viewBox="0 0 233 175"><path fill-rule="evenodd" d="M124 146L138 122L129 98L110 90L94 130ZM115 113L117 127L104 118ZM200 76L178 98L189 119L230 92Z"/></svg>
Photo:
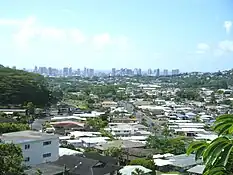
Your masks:
<svg viewBox="0 0 233 175"><path fill-rule="evenodd" d="M149 136L147 139L147 147L154 148L160 153L184 154L186 152L183 137L167 138Z"/></svg>

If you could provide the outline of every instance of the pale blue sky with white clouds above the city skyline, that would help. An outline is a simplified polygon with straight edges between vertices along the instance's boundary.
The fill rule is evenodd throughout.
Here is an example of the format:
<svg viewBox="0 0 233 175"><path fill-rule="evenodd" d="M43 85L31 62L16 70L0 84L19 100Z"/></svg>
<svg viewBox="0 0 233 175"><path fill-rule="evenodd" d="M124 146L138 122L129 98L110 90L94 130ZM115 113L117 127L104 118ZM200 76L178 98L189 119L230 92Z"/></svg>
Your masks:
<svg viewBox="0 0 233 175"><path fill-rule="evenodd" d="M232 0L7 0L0 64L231 69L232 9Z"/></svg>

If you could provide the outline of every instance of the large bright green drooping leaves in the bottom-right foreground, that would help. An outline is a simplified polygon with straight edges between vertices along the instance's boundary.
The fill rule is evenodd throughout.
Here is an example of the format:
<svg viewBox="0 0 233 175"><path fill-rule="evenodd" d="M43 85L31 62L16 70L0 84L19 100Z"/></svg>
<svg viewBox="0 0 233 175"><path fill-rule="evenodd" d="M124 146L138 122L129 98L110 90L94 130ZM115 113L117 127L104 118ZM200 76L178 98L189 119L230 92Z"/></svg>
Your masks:
<svg viewBox="0 0 233 175"><path fill-rule="evenodd" d="M225 114L216 119L214 131L218 138L208 143L197 141L189 145L187 154L196 153L196 159L202 158L204 175L232 174L227 172L227 163L233 149L233 115Z"/></svg>

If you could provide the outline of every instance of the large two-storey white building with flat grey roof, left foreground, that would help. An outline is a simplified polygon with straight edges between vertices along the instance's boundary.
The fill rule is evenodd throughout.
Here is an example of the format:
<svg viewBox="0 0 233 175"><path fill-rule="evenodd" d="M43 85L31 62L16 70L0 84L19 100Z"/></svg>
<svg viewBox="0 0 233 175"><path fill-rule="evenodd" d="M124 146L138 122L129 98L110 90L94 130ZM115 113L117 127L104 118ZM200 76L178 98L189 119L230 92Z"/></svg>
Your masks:
<svg viewBox="0 0 233 175"><path fill-rule="evenodd" d="M24 164L27 166L53 162L59 158L59 137L38 131L19 131L2 134L3 143L21 147Z"/></svg>

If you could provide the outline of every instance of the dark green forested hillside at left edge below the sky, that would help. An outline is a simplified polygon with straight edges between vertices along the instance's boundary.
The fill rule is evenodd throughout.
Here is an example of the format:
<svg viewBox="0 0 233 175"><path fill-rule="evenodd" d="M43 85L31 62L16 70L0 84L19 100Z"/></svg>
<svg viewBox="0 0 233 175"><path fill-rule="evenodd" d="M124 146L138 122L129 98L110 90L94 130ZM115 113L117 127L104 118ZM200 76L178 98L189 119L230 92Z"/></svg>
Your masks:
<svg viewBox="0 0 233 175"><path fill-rule="evenodd" d="M0 106L27 102L44 106L49 102L47 87L41 75L0 66Z"/></svg>

